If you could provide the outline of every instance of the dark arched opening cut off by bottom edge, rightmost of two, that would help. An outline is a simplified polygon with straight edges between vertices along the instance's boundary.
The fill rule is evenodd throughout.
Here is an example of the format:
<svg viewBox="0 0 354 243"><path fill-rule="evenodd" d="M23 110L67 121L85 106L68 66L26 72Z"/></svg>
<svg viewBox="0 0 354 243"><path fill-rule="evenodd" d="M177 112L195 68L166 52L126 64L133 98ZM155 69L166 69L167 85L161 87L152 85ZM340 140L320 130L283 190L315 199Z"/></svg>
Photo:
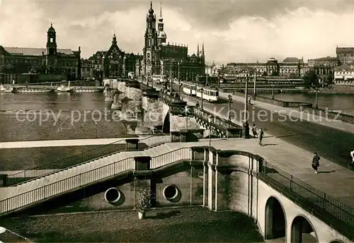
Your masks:
<svg viewBox="0 0 354 243"><path fill-rule="evenodd" d="M304 216L297 216L291 225L292 243L317 243L316 232L309 220Z"/></svg>

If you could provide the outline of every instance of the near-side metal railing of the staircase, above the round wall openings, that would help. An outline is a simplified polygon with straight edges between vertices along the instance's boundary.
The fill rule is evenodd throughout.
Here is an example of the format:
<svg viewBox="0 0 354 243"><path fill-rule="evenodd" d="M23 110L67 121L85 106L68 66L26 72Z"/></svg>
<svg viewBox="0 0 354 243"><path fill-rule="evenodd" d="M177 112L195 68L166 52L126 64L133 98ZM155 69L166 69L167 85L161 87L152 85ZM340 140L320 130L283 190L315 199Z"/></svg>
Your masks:
<svg viewBox="0 0 354 243"><path fill-rule="evenodd" d="M181 156L184 159L190 159L190 148L178 148L177 150L164 153L163 155L152 157L152 163L154 164L154 167L161 167L168 165L171 162L182 160L183 158L181 158ZM60 194L74 189L79 189L82 186L87 186L103 179L114 177L121 172L135 170L135 166L136 163L134 158L125 158L109 165L103 165L93 170L89 170L88 172L76 174L72 177L40 186L37 189L25 191L21 194L0 201L0 215L15 211L18 208L30 206L38 201L59 196Z"/></svg>

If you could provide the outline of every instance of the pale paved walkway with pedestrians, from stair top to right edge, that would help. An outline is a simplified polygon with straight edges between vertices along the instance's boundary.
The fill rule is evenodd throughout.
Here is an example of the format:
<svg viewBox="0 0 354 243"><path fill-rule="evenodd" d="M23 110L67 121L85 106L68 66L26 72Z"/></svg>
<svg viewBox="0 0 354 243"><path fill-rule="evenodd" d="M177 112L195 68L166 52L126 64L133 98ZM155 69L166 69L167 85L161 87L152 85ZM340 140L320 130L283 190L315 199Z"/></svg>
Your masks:
<svg viewBox="0 0 354 243"><path fill-rule="evenodd" d="M321 158L319 174L315 174L311 167L312 153L274 137L264 138L263 144L264 146L259 146L256 138L212 139L212 147L221 150L243 150L259 155L280 170L292 174L354 208L353 172ZM171 148L199 145L209 146L209 140L206 139L198 143L169 143ZM321 157L321 155L319 156Z"/></svg>

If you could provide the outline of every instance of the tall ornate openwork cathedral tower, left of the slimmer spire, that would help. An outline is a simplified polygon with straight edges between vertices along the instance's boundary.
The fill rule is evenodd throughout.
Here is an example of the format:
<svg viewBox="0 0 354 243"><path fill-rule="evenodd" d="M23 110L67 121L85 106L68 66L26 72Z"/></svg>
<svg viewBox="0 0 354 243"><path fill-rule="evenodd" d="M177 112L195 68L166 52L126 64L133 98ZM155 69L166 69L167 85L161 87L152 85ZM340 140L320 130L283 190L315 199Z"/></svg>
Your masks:
<svg viewBox="0 0 354 243"><path fill-rule="evenodd" d="M157 32L156 32L156 16L150 2L150 9L147 13L147 29L145 30L144 45L144 74L152 75L157 65Z"/></svg>

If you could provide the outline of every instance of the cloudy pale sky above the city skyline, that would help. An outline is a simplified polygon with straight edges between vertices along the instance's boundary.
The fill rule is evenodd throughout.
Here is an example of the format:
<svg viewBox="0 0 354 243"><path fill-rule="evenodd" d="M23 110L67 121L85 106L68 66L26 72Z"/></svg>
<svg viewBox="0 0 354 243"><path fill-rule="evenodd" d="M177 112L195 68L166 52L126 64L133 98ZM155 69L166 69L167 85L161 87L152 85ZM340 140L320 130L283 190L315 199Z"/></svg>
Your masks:
<svg viewBox="0 0 354 243"><path fill-rule="evenodd" d="M125 52L142 53L149 1L0 0L0 45L45 47L50 23L58 48L88 58L109 49L113 33ZM354 0L162 1L167 41L204 42L216 64L264 62L270 57L335 57L336 46L354 47ZM159 1L153 1L159 18ZM157 25L156 25L157 28Z"/></svg>

